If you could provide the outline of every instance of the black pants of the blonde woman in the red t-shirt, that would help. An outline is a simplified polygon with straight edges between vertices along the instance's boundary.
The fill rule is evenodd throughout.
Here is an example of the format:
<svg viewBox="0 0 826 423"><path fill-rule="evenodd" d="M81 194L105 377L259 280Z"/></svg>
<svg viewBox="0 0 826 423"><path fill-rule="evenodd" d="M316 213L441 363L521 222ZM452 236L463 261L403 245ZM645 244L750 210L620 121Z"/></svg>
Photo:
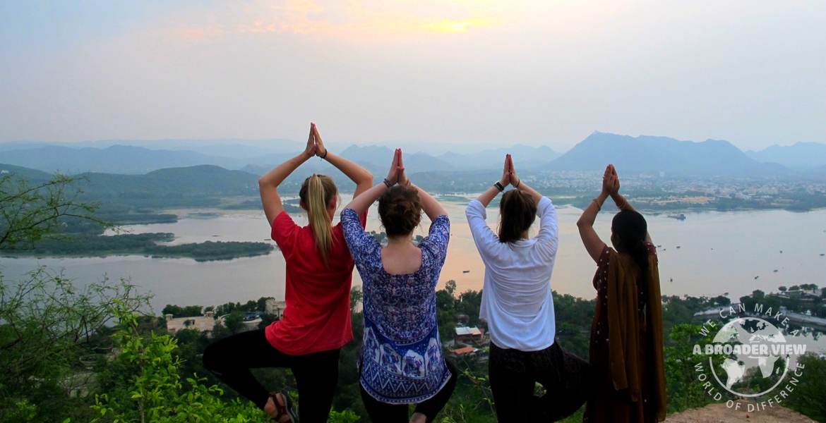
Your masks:
<svg viewBox="0 0 826 423"><path fill-rule="evenodd" d="M204 350L204 367L222 382L263 409L269 399L249 369L287 367L298 385L302 423L327 421L339 380L339 350L286 355L267 341L263 329L246 331L213 342Z"/></svg>

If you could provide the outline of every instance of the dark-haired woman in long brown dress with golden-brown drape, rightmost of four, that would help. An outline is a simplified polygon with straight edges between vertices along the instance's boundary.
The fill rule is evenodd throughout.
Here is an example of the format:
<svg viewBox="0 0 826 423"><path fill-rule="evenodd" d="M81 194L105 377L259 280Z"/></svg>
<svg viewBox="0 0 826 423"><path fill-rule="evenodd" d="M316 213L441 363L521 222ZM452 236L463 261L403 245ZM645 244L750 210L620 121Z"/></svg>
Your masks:
<svg viewBox="0 0 826 423"><path fill-rule="evenodd" d="M611 244L594 230L608 197L619 213ZM577 222L582 242L596 261L596 313L591 323L592 395L583 421L653 422L665 419L662 301L657 252L642 214L619 195L619 176L605 168L602 192Z"/></svg>

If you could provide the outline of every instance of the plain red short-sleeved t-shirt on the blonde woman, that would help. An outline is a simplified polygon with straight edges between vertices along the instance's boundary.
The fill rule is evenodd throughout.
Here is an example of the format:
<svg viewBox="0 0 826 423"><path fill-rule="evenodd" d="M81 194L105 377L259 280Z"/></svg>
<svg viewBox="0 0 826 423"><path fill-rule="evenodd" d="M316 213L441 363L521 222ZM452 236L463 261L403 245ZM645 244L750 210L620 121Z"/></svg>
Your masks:
<svg viewBox="0 0 826 423"><path fill-rule="evenodd" d="M367 214L359 218L364 226ZM287 261L287 307L281 320L264 331L267 341L289 355L341 348L353 339L350 284L354 266L341 223L333 227L329 266L316 249L310 226L298 226L286 211L273 220L272 236Z"/></svg>

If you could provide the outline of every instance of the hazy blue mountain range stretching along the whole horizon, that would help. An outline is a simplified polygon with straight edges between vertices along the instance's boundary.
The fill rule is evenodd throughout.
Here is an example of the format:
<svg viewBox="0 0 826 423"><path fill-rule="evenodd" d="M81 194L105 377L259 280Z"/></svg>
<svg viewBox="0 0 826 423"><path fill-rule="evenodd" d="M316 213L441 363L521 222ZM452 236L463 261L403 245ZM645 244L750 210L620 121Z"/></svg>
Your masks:
<svg viewBox="0 0 826 423"><path fill-rule="evenodd" d="M212 165L261 175L298 153L287 150L290 144L286 142L273 143L268 148L216 142L202 146L198 151L175 149L189 145L183 142L170 144L172 147L169 149L120 144L105 148L34 144L26 148L21 143L3 145L0 144L0 162L69 174L105 172L142 175L169 167ZM164 144L158 141L145 145ZM826 167L826 144L821 143L797 143L788 147L772 146L762 151L743 152L723 140L691 142L603 132L594 132L562 155L545 146L517 144L438 155L406 153L405 166L411 172L491 171L501 168L506 153L513 155L517 169L539 172L600 171L605 164L614 163L623 172L664 173L669 176L736 176L742 172L822 175ZM340 154L381 175L387 172L392 149L377 145L351 145ZM301 175L297 176L329 172L329 169L328 163L313 160L301 167Z"/></svg>

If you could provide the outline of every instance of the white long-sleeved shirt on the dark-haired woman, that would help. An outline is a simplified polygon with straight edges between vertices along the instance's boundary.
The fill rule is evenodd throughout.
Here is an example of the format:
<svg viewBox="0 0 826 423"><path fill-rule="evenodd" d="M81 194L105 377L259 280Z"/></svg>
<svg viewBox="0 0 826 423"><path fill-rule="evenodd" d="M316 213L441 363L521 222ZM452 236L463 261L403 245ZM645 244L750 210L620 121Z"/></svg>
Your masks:
<svg viewBox="0 0 826 423"><path fill-rule="evenodd" d="M557 211L547 197L539 200L539 234L500 242L487 226L478 200L466 210L473 242L485 263L479 317L487 320L491 341L501 348L544 350L553 345L556 322L551 274L558 247Z"/></svg>

